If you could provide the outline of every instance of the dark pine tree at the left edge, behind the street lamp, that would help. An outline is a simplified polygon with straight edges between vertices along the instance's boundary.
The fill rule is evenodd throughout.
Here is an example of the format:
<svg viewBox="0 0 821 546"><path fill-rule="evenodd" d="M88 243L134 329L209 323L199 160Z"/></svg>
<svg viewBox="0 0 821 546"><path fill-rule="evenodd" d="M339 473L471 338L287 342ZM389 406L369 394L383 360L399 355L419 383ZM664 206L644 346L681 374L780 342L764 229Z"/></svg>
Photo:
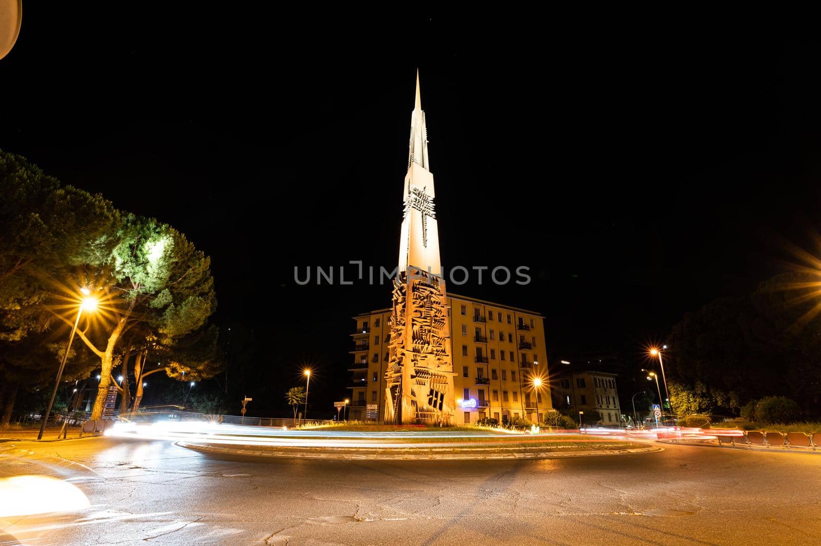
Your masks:
<svg viewBox="0 0 821 546"><path fill-rule="evenodd" d="M2 421L21 389L53 380L67 333L44 304L74 268L112 249L119 213L99 195L62 186L24 157L0 150L0 398ZM76 353L80 362L87 355ZM66 377L75 376L75 359ZM80 368L85 366L81 364Z"/></svg>

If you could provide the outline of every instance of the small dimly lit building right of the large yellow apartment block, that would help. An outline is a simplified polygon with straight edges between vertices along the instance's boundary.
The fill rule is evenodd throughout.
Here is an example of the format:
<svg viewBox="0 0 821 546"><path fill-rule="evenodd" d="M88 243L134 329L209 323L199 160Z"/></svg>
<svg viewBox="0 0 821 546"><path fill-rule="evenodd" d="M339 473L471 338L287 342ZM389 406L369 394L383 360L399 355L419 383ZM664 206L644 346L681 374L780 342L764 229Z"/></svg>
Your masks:
<svg viewBox="0 0 821 546"><path fill-rule="evenodd" d="M578 418L579 412L599 412L599 422L621 426L616 374L605 371L565 371L551 378L551 403L557 410Z"/></svg>

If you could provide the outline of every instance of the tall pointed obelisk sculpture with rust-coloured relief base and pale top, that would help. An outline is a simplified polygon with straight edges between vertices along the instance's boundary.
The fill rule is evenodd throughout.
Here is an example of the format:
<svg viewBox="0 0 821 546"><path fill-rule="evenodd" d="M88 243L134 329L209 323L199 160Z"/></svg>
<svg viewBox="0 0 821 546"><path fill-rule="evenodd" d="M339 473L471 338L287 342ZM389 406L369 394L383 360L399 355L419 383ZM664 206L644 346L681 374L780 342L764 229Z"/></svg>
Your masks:
<svg viewBox="0 0 821 546"><path fill-rule="evenodd" d="M417 71L399 270L393 281L385 421L447 425L455 406L453 360L427 136Z"/></svg>

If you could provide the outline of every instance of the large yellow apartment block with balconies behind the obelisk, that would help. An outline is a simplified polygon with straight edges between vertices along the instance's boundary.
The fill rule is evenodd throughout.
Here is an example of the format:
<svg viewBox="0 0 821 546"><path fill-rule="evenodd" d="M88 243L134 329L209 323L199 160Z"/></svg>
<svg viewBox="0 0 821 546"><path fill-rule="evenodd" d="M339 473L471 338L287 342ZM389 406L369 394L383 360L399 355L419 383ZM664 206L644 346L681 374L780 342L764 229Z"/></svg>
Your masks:
<svg viewBox="0 0 821 546"><path fill-rule="evenodd" d="M456 413L453 423L493 417L539 421L553 406L544 317L517 307L447 294ZM350 416L377 421L385 413L392 309L354 316ZM534 377L542 385L533 386ZM538 392L537 392L538 390Z"/></svg>

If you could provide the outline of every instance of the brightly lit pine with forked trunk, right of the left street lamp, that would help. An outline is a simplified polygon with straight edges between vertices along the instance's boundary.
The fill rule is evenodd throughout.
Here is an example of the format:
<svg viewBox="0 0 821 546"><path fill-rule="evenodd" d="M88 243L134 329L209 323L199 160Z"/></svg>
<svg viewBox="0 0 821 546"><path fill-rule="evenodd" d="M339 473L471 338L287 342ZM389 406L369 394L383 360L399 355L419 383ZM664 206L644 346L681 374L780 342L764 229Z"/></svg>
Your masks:
<svg viewBox="0 0 821 546"><path fill-rule="evenodd" d="M100 360L92 419L99 419L112 384L115 357L131 330L150 330L173 344L198 330L216 307L210 260L179 231L152 218L123 215L110 252L90 257L89 283L99 294L98 328L78 337ZM58 316L70 322L66 316Z"/></svg>

